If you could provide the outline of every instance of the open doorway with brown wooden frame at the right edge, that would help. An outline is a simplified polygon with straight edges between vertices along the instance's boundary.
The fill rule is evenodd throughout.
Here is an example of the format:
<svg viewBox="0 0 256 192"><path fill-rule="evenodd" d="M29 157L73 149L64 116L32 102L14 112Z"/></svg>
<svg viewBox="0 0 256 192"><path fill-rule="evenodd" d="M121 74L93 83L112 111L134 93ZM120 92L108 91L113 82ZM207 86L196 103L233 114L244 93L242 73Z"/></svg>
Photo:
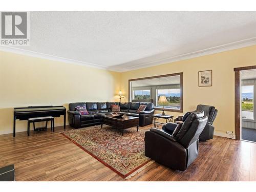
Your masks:
<svg viewBox="0 0 256 192"><path fill-rule="evenodd" d="M235 68L236 139L256 142L256 66Z"/></svg>

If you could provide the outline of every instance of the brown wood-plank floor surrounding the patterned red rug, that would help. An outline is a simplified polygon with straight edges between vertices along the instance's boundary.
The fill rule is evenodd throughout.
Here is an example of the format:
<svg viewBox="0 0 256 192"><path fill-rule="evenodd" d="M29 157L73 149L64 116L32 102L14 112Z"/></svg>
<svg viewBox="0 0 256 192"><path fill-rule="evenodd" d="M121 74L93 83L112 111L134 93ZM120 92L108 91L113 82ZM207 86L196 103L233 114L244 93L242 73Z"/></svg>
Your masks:
<svg viewBox="0 0 256 192"><path fill-rule="evenodd" d="M143 127L149 129L152 125ZM67 128L69 130L71 128ZM0 136L0 167L14 164L16 181L126 181L55 132ZM256 181L256 143L215 136L200 142L185 172L153 163L127 181Z"/></svg>

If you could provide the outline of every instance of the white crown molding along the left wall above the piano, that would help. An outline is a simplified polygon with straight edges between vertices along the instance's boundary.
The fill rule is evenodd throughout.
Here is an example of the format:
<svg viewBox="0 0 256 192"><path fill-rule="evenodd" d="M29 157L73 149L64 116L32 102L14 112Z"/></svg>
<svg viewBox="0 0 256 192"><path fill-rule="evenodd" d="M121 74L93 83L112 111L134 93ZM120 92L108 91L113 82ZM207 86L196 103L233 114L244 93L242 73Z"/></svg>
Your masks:
<svg viewBox="0 0 256 192"><path fill-rule="evenodd" d="M92 68L97 68L97 69L109 70L108 67L101 66L101 65L91 63L91 62L83 62L83 61L79 61L79 60L68 59L68 58L58 57L58 56L54 56L54 55L38 53L38 52L35 52L35 51L19 49L19 48L16 48L16 47L2 46L1 45L0 46L0 51L6 51L6 52L16 53L16 54L20 54L20 55L27 55L27 56L37 57L37 58L42 58L42 59L60 61L60 62L65 62L65 63L79 65L79 66L87 66L87 67L92 67ZM111 70L111 71L113 71L113 70Z"/></svg>

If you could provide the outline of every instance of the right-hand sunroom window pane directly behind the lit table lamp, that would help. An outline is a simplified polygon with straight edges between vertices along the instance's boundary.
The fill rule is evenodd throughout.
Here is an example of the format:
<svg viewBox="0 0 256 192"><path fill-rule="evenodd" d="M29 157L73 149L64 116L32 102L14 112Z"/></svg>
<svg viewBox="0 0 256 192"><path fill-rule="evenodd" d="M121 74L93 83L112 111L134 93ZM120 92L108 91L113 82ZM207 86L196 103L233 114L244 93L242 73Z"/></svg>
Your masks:
<svg viewBox="0 0 256 192"><path fill-rule="evenodd" d="M156 106L180 109L180 89L158 89Z"/></svg>

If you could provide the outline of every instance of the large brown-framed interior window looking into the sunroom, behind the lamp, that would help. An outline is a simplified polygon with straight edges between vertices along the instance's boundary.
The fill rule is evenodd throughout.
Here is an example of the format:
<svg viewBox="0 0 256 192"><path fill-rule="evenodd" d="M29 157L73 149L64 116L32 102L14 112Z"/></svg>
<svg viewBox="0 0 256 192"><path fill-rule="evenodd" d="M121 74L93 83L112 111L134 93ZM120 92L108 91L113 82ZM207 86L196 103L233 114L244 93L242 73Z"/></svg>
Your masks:
<svg viewBox="0 0 256 192"><path fill-rule="evenodd" d="M183 73L129 80L129 101L153 102L156 110L183 112Z"/></svg>

